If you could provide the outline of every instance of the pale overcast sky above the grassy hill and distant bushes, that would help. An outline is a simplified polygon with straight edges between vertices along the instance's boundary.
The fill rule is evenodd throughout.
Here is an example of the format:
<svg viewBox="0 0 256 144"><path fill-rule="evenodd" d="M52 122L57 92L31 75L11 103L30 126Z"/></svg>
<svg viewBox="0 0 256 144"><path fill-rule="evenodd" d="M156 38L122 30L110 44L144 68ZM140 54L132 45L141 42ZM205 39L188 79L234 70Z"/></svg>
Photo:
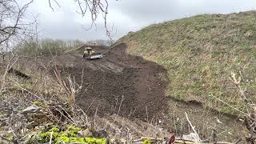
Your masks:
<svg viewBox="0 0 256 144"><path fill-rule="evenodd" d="M26 0L20 0L26 1ZM34 0L27 17L38 14L41 38L106 39L102 19L97 28L90 27L90 18L82 18L74 0L57 0L61 7L50 9L48 0ZM114 25L114 38L140 30L153 23L165 22L195 14L228 14L255 10L256 0L109 0L108 24Z"/></svg>

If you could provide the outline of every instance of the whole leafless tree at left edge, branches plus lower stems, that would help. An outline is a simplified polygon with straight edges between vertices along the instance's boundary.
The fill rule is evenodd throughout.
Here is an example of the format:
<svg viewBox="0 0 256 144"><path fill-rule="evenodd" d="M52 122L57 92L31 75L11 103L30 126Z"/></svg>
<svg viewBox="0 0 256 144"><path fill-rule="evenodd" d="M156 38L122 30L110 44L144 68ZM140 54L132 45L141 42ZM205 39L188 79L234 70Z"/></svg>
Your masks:
<svg viewBox="0 0 256 144"><path fill-rule="evenodd" d="M25 18L26 10L32 2L33 0L30 0L20 6L16 0L0 0L0 55L2 55L1 66L5 69L1 75L0 95L5 88L6 74L18 61L18 57L8 51L11 51L18 42L34 34L35 21L29 22Z"/></svg>

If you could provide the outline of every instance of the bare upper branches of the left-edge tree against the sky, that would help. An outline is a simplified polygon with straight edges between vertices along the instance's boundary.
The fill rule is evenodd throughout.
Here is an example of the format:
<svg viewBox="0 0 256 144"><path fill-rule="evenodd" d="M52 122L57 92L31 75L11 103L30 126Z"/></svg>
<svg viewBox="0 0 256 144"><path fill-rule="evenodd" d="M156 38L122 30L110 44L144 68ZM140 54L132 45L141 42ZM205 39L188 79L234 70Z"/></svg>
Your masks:
<svg viewBox="0 0 256 144"><path fill-rule="evenodd" d="M34 22L25 19L27 8L33 0L23 6L19 6L16 0L0 0L0 46L6 51L13 46L18 39L29 36Z"/></svg>

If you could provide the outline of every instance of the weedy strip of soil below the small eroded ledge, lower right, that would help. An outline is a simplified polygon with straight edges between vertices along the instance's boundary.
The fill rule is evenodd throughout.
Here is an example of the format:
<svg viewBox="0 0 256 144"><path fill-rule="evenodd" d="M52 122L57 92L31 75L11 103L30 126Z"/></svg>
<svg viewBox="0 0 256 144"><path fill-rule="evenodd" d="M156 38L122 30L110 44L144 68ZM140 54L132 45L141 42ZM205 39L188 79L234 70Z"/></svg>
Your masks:
<svg viewBox="0 0 256 144"><path fill-rule="evenodd" d="M168 108L168 114L162 120L162 127L171 129L169 131L178 135L193 132L186 114L202 139L210 138L213 130L216 130L218 140L236 142L242 137L242 130L245 128L242 117L220 113L198 102L183 102L169 98Z"/></svg>

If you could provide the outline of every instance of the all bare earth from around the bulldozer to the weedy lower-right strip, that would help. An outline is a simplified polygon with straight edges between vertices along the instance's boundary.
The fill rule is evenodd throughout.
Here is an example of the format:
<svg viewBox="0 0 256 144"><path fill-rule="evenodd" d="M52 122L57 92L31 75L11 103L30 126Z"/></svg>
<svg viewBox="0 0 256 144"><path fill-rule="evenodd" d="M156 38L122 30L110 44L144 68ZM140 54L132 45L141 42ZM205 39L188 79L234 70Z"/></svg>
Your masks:
<svg viewBox="0 0 256 144"><path fill-rule="evenodd" d="M199 103L178 102L166 97L166 70L154 62L126 54L126 44L106 48L95 46L103 58L82 58L85 47L54 58L36 58L40 70L57 67L62 76L70 76L82 89L76 102L86 114L110 117L118 114L136 121L150 122L170 133L188 134L185 112L202 138L217 130L218 138L235 141L242 136L242 122L237 117L220 114ZM161 121L161 122L160 122ZM146 135L145 135L146 136Z"/></svg>

